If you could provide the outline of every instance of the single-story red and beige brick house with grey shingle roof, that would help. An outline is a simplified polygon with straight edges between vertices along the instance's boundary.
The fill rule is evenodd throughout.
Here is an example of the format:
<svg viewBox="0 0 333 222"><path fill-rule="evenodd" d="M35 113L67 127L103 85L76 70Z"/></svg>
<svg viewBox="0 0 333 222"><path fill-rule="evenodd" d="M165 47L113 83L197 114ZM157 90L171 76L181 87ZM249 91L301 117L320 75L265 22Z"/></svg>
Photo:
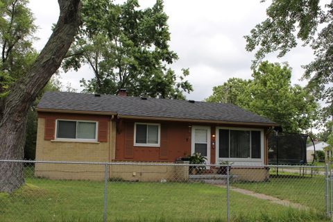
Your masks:
<svg viewBox="0 0 333 222"><path fill-rule="evenodd" d="M126 96L125 90L118 96L46 92L37 114L36 160L54 161L175 162L198 152L207 157L207 164L262 166L267 164L266 135L277 126L232 104ZM188 177L184 167L164 168L112 166L110 178ZM253 168L266 175L263 169ZM244 167L232 170L246 175ZM36 164L35 174L101 180L104 169Z"/></svg>

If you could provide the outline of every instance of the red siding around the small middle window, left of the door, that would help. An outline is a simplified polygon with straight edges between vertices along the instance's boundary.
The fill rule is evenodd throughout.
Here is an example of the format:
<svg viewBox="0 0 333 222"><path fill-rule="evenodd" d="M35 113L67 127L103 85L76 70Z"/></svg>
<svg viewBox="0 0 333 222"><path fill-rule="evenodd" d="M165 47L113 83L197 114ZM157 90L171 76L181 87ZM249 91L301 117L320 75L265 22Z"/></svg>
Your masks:
<svg viewBox="0 0 333 222"><path fill-rule="evenodd" d="M188 123L144 121L160 123L160 147L134 146L135 121L122 119L117 124L116 160L167 161L191 154L191 137Z"/></svg>

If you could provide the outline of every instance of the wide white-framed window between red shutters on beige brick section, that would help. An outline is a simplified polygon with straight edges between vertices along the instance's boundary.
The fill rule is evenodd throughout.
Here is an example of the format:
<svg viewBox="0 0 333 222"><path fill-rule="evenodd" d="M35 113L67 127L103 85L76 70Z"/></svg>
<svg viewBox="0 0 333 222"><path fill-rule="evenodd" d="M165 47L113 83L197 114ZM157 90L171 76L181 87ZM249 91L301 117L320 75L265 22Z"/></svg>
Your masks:
<svg viewBox="0 0 333 222"><path fill-rule="evenodd" d="M96 121L57 120L57 139L92 139L97 138Z"/></svg>

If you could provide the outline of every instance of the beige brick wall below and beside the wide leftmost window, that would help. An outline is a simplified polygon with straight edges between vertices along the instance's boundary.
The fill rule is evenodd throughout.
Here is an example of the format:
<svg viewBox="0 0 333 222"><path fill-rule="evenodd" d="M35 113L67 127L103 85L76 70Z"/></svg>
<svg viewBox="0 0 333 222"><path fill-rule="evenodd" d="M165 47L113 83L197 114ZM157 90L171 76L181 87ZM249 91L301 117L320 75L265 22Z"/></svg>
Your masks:
<svg viewBox="0 0 333 222"><path fill-rule="evenodd" d="M109 123L108 142L56 142L44 140L44 118L38 118L36 160L110 162L115 150L115 123ZM112 150L112 151L111 151ZM53 179L103 180L101 165L36 164L35 176Z"/></svg>

